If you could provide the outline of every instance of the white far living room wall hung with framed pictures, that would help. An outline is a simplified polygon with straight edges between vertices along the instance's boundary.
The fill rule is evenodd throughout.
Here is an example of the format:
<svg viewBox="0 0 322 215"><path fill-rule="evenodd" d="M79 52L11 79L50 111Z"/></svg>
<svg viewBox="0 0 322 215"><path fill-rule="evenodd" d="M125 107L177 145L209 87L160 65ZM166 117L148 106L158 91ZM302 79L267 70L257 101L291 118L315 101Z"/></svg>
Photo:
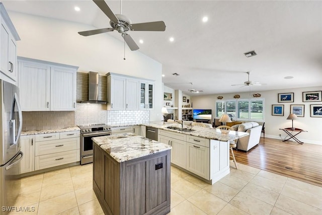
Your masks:
<svg viewBox="0 0 322 215"><path fill-rule="evenodd" d="M255 87L254 87L255 88ZM286 128L292 126L292 121L287 120L287 116L290 114L290 105L304 105L304 117L297 117L297 120L293 121L294 127L307 130L308 132L302 132L296 137L303 142L311 144L322 145L322 118L310 117L310 105L322 104L322 102L302 102L302 92L309 91L321 91L320 87L308 87L308 88L294 88L284 90L262 91L252 92L262 94L261 98L265 98L265 137L280 138L286 136L286 133L279 128ZM294 93L294 102L278 103L279 93ZM240 99L251 98L249 93L231 93L231 94L215 94L208 96L195 96L191 97L193 107L198 109L212 109L212 118L215 116L215 102L218 96L223 96L223 99L233 99L235 94L240 95ZM272 105L284 105L284 116L272 116Z"/></svg>

